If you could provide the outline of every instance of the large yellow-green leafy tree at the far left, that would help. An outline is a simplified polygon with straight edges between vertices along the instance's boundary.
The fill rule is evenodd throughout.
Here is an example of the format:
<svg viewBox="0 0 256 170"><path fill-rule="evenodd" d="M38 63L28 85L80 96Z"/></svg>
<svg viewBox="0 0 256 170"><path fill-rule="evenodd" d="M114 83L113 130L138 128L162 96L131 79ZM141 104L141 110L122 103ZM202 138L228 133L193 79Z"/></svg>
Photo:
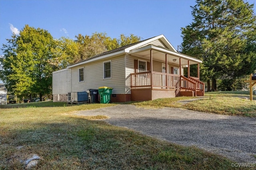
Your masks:
<svg viewBox="0 0 256 170"><path fill-rule="evenodd" d="M7 41L0 59L2 80L18 97L35 93L42 101L42 95L51 93L52 71L57 69L52 65L52 35L25 25L20 35Z"/></svg>

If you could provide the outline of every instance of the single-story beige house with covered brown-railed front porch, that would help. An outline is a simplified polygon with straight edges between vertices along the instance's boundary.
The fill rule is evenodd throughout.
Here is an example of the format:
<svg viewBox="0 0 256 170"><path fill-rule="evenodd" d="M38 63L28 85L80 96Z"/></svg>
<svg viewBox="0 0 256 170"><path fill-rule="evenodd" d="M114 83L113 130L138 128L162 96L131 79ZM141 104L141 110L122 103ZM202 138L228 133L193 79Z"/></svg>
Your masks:
<svg viewBox="0 0 256 170"><path fill-rule="evenodd" d="M67 101L69 92L101 86L113 88L112 102L204 96L200 63L199 59L178 53L164 35L159 35L53 72L53 100ZM197 64L198 77L183 76L185 67L190 75L191 64Z"/></svg>

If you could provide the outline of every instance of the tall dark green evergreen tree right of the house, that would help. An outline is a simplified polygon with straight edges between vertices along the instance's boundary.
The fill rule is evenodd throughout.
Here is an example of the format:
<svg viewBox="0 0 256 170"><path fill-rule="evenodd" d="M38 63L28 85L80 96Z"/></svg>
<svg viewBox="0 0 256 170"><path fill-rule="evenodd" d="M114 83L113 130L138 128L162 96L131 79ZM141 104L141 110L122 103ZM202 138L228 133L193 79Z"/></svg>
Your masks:
<svg viewBox="0 0 256 170"><path fill-rule="evenodd" d="M194 21L182 28L182 53L203 60L202 80L217 90L218 78L256 69L256 20L242 0L196 0ZM253 4L249 5L253 8Z"/></svg>

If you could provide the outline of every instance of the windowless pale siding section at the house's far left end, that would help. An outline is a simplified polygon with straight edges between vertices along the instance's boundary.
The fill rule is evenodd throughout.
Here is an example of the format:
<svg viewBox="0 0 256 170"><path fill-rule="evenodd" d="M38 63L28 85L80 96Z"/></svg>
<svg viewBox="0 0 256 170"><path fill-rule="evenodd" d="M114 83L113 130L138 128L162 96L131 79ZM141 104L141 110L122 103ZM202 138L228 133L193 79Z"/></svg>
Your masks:
<svg viewBox="0 0 256 170"><path fill-rule="evenodd" d="M67 94L71 91L71 69L52 72L52 94Z"/></svg>

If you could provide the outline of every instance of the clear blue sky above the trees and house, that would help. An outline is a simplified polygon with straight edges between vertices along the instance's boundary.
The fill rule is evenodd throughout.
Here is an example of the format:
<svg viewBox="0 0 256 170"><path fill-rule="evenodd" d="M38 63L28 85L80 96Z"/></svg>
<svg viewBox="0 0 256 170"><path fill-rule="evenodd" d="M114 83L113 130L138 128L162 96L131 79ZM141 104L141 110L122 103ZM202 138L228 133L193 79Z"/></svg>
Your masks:
<svg viewBox="0 0 256 170"><path fill-rule="evenodd" d="M177 49L182 43L180 29L192 22L190 6L195 4L195 0L0 0L0 45L28 24L57 39L94 32L142 39L164 34Z"/></svg>

